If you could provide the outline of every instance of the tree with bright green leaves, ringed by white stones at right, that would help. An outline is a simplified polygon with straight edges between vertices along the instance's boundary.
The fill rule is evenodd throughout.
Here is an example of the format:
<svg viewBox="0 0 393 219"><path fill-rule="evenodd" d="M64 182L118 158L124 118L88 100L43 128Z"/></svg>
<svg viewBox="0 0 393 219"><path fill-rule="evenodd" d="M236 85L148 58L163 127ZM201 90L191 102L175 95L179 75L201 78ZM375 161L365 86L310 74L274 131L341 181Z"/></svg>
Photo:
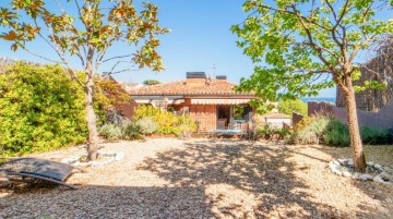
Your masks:
<svg viewBox="0 0 393 219"><path fill-rule="evenodd" d="M239 92L254 90L254 105L315 96L337 85L345 96L355 168L366 171L353 80L358 77L358 53L392 33L393 21L374 19L388 1L368 0L248 0L249 16L231 31L237 45L257 64ZM393 2L391 2L393 5ZM265 66L262 65L264 61ZM271 106L269 106L271 108Z"/></svg>

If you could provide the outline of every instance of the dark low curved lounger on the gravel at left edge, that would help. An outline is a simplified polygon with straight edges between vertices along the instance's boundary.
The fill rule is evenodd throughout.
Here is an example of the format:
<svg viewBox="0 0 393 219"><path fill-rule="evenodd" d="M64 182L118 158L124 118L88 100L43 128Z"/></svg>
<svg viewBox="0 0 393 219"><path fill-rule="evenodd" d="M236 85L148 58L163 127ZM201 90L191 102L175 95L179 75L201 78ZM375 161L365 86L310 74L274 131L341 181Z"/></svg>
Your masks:
<svg viewBox="0 0 393 219"><path fill-rule="evenodd" d="M73 169L72 166L66 163L32 157L0 159L0 172L5 173L9 180L13 177L21 177L22 180L33 178L76 190L78 186L63 182Z"/></svg>

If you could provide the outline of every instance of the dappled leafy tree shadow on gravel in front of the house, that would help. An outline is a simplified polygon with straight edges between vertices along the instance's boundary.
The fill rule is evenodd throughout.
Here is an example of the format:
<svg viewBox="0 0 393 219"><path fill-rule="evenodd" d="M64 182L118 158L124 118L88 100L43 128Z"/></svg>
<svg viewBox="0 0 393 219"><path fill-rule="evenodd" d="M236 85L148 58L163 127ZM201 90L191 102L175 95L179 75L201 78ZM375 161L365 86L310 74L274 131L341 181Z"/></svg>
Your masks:
<svg viewBox="0 0 393 219"><path fill-rule="evenodd" d="M212 139L160 153L139 169L179 188L202 187L215 217L335 218L331 206L307 199L289 156L278 145Z"/></svg>

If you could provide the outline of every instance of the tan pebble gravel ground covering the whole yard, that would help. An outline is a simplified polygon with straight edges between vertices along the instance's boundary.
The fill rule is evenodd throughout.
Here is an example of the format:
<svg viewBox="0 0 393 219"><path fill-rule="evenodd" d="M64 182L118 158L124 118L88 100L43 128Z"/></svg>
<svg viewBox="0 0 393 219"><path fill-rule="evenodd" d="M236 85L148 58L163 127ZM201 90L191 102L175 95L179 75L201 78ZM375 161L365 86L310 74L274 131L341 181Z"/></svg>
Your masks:
<svg viewBox="0 0 393 219"><path fill-rule="evenodd" d="M393 186L353 181L327 168L350 148L254 145L236 139L102 144L124 158L86 167L61 186L0 190L0 218L391 218ZM392 146L366 147L393 167ZM83 146L33 155L60 160Z"/></svg>

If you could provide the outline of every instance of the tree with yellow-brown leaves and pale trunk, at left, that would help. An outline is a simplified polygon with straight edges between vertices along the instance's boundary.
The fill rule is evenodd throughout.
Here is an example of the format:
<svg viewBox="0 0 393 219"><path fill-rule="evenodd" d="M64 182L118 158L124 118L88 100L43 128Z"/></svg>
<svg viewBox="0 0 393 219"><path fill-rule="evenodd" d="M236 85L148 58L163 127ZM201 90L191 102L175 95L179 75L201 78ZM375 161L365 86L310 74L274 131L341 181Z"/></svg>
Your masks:
<svg viewBox="0 0 393 219"><path fill-rule="evenodd" d="M68 13L66 8L74 9L75 13L72 10ZM23 12L25 15L21 15ZM47 61L62 63L68 69L69 76L84 88L88 160L97 157L98 133L93 109L93 78L100 65L112 63L109 74L129 71L130 69L119 70L123 63L135 63L139 68L147 66L154 71L164 69L156 52L159 40L155 36L168 33L168 29L158 26L157 7L151 3L143 3L142 11L138 12L130 0L55 0L51 5L45 4L43 0L11 0L8 7L0 8L0 25L8 31L0 38L12 41L12 50L22 48ZM47 42L60 61L28 49L27 42L36 39ZM138 50L134 53L128 51L108 57L108 49L117 42L132 44ZM69 58L80 61L85 73L84 81L78 78Z"/></svg>

